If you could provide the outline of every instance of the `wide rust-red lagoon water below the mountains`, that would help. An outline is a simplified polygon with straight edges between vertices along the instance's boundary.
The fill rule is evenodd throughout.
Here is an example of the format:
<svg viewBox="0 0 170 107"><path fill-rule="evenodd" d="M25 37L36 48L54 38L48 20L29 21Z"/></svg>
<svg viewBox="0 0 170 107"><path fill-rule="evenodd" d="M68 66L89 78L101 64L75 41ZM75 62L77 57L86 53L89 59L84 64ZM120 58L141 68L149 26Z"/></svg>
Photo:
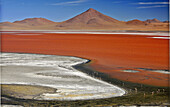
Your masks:
<svg viewBox="0 0 170 107"><path fill-rule="evenodd" d="M148 69L169 69L169 40L151 37L130 34L4 32L1 35L1 51L82 57L92 61L89 65L91 68L109 74L112 78L168 86L169 74Z"/></svg>

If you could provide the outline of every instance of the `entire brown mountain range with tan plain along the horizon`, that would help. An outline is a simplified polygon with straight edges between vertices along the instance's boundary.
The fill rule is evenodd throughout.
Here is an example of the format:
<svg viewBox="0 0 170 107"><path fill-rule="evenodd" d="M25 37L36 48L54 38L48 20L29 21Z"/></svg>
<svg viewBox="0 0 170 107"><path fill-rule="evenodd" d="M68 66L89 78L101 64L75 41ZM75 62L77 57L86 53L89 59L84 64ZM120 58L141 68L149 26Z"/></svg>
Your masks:
<svg viewBox="0 0 170 107"><path fill-rule="evenodd" d="M159 23L159 24L157 24ZM15 22L2 22L3 29L47 29L47 30L68 30L68 29L99 29L99 30L135 30L135 29L167 29L168 21L161 22L158 19L140 21L119 21L99 11L89 8L87 11L63 22L54 22L45 18L26 18ZM143 27L140 27L143 26ZM162 27L162 28L161 28Z"/></svg>

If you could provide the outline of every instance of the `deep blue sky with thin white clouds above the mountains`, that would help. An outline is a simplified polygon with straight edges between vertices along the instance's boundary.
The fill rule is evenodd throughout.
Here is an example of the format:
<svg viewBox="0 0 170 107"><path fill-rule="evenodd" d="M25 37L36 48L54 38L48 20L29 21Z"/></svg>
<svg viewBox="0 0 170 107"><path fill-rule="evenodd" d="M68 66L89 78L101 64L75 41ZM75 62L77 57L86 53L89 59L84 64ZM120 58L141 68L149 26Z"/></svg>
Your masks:
<svg viewBox="0 0 170 107"><path fill-rule="evenodd" d="M88 8L128 21L168 20L168 0L1 0L1 22L43 17L61 22Z"/></svg>

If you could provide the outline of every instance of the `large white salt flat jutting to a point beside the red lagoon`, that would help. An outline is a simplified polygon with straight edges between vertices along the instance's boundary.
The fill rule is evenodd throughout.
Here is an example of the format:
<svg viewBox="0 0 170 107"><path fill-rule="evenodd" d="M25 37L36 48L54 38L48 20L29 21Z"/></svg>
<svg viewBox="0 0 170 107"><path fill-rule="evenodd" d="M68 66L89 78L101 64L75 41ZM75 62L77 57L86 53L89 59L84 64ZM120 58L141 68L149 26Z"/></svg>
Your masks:
<svg viewBox="0 0 170 107"><path fill-rule="evenodd" d="M72 66L88 60L54 55L2 53L2 84L26 84L56 88L35 99L86 100L117 97L125 90L92 78Z"/></svg>

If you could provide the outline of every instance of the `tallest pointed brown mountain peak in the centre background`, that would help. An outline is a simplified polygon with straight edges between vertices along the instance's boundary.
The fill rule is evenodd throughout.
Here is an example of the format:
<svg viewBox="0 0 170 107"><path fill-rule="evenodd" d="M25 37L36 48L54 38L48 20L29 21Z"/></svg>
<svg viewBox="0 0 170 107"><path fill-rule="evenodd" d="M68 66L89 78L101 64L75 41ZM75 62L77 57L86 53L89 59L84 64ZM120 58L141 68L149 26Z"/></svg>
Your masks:
<svg viewBox="0 0 170 107"><path fill-rule="evenodd" d="M95 9L88 9L87 11L77 15L69 20L62 22L57 25L58 27L67 27L67 26L101 26L101 25L113 25L120 24L121 21L118 21L112 17L106 16Z"/></svg>

